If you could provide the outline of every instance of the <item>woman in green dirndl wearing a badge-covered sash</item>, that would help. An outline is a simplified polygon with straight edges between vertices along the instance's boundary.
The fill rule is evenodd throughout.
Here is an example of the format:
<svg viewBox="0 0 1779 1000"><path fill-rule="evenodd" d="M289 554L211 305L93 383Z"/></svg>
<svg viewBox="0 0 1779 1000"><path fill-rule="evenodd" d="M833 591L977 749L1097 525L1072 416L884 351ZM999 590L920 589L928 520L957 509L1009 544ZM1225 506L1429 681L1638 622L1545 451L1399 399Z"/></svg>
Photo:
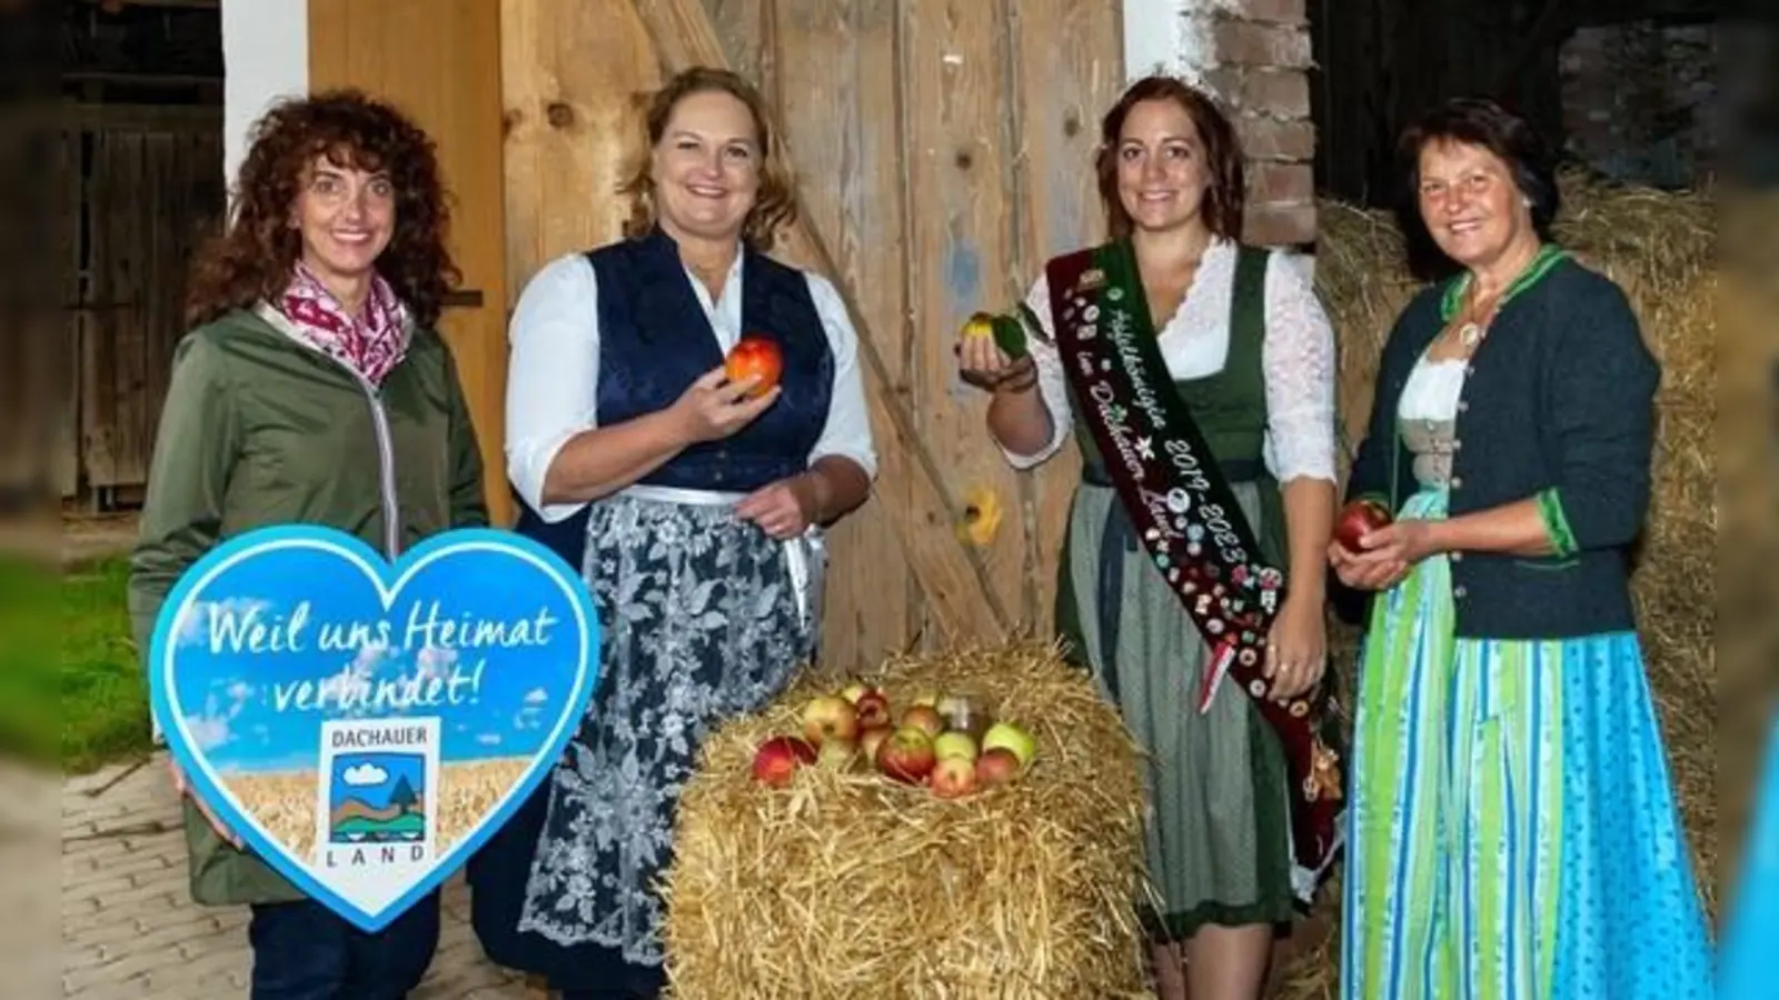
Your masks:
<svg viewBox="0 0 1779 1000"><path fill-rule="evenodd" d="M966 333L961 370L993 391L989 432L1016 468L1071 431L1083 452L1057 619L1153 760L1156 988L1252 1000L1274 927L1325 863L1293 858L1288 754L1256 708L1290 719L1324 671L1332 335L1292 260L1238 244L1240 148L1211 101L1140 80L1101 142L1112 242L1050 262L1025 343L1009 356ZM1235 550L1235 566L1211 557ZM1226 596L1228 616L1194 616ZM1252 628L1261 605L1272 625ZM1256 635L1226 642L1242 632Z"/></svg>

